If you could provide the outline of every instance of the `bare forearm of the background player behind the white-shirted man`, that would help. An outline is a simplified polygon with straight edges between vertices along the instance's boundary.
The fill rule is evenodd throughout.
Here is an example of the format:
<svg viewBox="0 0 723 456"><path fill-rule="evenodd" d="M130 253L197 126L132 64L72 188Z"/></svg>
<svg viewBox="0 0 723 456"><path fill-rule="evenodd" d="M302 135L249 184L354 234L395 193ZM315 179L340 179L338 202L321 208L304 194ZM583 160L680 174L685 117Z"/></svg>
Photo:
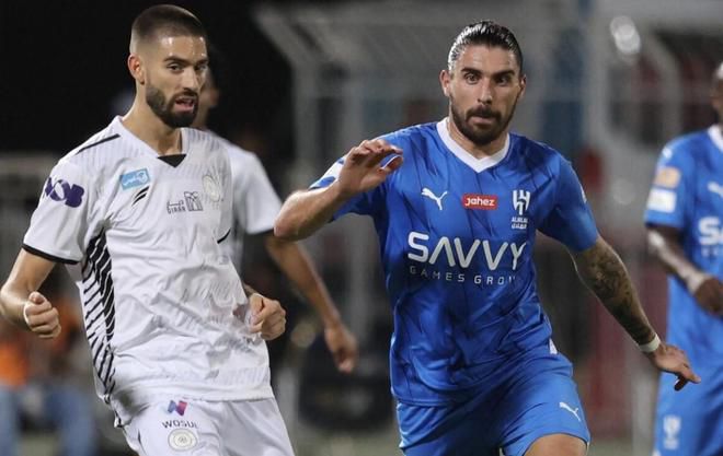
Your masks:
<svg viewBox="0 0 723 456"><path fill-rule="evenodd" d="M324 327L338 325L341 323L338 311L305 248L273 235L266 236L265 243L274 262L311 303Z"/></svg>

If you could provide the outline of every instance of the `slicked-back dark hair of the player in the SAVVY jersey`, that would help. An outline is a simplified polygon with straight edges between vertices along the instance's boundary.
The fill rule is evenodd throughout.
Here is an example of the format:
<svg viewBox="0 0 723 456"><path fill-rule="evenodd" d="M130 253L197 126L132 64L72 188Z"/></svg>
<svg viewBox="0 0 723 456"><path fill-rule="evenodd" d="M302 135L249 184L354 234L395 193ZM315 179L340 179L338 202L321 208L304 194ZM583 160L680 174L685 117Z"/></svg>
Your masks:
<svg viewBox="0 0 723 456"><path fill-rule="evenodd" d="M504 25L494 21L479 21L466 26L452 43L447 57L447 68L451 71L459 56L470 45L484 45L490 47L501 47L515 55L519 65L519 73L523 74L523 51L519 48L515 34Z"/></svg>

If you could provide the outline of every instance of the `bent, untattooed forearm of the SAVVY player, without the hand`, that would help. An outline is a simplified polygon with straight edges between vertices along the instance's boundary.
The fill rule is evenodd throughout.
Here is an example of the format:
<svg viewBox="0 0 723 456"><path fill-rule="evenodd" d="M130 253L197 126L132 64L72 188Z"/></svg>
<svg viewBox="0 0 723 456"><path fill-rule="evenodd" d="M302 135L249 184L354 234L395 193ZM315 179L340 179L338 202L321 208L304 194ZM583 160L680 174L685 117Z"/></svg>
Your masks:
<svg viewBox="0 0 723 456"><path fill-rule="evenodd" d="M286 241L309 237L326 224L348 197L343 196L335 184L326 188L292 194L282 207L274 235Z"/></svg>

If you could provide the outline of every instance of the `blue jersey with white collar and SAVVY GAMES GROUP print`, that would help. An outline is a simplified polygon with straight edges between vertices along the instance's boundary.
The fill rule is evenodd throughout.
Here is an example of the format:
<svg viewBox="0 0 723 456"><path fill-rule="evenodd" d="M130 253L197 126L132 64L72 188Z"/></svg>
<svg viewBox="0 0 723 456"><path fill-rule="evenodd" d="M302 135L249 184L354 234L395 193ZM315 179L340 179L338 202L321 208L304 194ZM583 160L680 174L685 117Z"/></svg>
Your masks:
<svg viewBox="0 0 723 456"><path fill-rule="evenodd" d="M536 230L573 250L597 237L570 163L509 135L474 159L446 120L383 137L404 163L347 212L374 219L394 320L392 391L405 404L439 405L483 387L505 363L547 346L532 265ZM334 182L338 161L312 187Z"/></svg>

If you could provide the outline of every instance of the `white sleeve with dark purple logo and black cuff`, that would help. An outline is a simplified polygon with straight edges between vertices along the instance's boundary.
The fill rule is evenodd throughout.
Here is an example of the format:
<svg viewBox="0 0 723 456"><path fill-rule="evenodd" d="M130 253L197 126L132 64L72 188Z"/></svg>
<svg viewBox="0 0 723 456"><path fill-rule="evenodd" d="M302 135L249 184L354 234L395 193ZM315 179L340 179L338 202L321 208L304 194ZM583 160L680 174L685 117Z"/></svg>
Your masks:
<svg viewBox="0 0 723 456"><path fill-rule="evenodd" d="M67 160L53 168L23 238L25 250L56 262L83 259L94 199L88 175Z"/></svg>

